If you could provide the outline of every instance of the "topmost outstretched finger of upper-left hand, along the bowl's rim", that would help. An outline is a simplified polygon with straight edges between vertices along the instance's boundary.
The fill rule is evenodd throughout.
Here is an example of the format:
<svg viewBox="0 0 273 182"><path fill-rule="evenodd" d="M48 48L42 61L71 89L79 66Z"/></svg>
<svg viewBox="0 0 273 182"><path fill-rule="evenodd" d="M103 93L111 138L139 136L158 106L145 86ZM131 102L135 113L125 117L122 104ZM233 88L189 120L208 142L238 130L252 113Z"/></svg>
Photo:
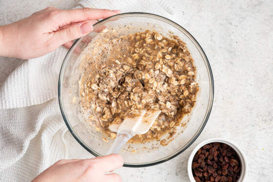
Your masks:
<svg viewBox="0 0 273 182"><path fill-rule="evenodd" d="M109 9L91 9L80 8L71 10L62 10L57 13L59 20L59 27L63 27L70 23L86 21L86 20L98 20L105 19L120 13L119 10L111 11ZM54 13L53 13L54 15Z"/></svg>

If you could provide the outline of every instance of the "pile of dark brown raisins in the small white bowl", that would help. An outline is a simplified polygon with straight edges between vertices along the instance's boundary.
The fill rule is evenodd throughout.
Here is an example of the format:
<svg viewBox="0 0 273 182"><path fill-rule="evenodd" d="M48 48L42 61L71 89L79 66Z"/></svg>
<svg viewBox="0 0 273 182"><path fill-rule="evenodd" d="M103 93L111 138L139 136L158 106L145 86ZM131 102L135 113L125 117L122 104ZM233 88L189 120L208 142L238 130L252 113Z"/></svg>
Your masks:
<svg viewBox="0 0 273 182"><path fill-rule="evenodd" d="M238 155L229 145L213 142L197 151L192 171L196 182L236 182L240 166Z"/></svg>

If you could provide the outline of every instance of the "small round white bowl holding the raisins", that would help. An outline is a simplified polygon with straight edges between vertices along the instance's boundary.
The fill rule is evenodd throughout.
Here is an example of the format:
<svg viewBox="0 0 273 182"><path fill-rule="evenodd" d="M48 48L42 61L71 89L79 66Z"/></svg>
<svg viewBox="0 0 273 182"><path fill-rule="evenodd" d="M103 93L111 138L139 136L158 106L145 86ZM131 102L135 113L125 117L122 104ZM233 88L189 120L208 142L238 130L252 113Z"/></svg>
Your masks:
<svg viewBox="0 0 273 182"><path fill-rule="evenodd" d="M237 153L237 155L240 159L240 162L241 162L241 174L240 174L240 178L237 180L237 182L245 182L246 178L247 178L247 172L248 172L248 165L247 165L247 160L246 160L245 154L243 153L242 149L240 149L240 147L238 145L236 145L234 142L231 142L227 139L222 139L222 138L212 138L212 139L205 140L205 141L199 143L195 147L195 149L192 151L189 161L188 161L188 175L189 175L190 181L195 182L194 175L192 172L192 162L193 162L196 152L198 151L199 148L201 148L205 144L212 143L212 142L226 143L227 145L229 145L230 147L232 147L234 149L234 151Z"/></svg>

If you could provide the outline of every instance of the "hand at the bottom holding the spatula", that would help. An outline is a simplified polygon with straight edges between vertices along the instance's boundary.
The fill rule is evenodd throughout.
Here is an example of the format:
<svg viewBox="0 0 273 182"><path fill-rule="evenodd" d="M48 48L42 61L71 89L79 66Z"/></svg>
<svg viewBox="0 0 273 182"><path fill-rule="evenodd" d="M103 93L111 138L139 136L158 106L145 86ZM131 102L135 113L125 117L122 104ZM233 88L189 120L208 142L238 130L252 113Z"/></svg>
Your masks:
<svg viewBox="0 0 273 182"><path fill-rule="evenodd" d="M121 182L118 174L105 173L122 165L123 159L118 154L86 160L60 160L32 182Z"/></svg>

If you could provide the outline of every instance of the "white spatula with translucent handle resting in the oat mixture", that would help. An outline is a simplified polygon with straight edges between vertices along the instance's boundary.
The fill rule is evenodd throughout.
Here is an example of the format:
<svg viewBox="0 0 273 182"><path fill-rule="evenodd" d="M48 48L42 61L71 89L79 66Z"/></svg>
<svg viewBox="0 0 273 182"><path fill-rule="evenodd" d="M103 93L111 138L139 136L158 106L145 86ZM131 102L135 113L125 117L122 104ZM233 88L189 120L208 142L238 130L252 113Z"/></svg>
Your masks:
<svg viewBox="0 0 273 182"><path fill-rule="evenodd" d="M124 119L121 124L110 125L109 129L113 132L117 132L117 137L107 155L117 154L121 147L133 136L146 133L160 113L161 110L141 110L134 113L135 117Z"/></svg>

